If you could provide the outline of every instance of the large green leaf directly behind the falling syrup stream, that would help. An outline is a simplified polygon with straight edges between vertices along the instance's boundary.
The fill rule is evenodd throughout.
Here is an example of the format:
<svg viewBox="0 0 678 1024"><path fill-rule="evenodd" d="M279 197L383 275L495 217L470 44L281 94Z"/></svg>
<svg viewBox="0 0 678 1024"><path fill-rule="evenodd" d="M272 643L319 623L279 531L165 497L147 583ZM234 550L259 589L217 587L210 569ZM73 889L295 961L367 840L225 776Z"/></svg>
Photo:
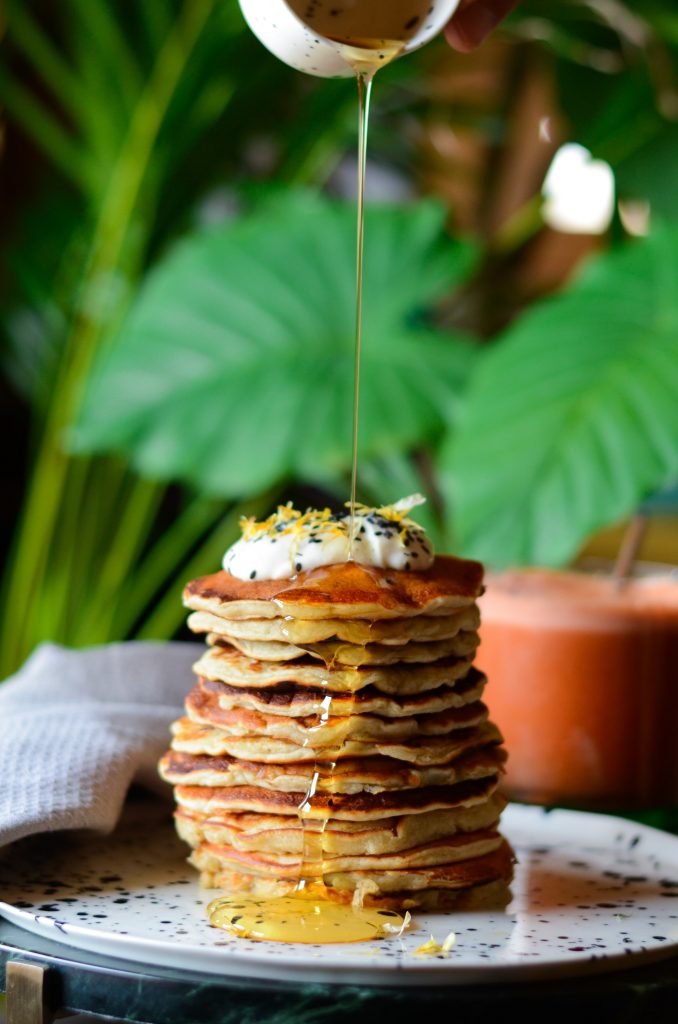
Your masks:
<svg viewBox="0 0 678 1024"><path fill-rule="evenodd" d="M424 311L470 250L435 204L368 211L361 451L386 456L442 429L473 348ZM201 231L149 278L87 387L74 443L126 453L151 478L221 497L350 463L353 204L305 193Z"/></svg>

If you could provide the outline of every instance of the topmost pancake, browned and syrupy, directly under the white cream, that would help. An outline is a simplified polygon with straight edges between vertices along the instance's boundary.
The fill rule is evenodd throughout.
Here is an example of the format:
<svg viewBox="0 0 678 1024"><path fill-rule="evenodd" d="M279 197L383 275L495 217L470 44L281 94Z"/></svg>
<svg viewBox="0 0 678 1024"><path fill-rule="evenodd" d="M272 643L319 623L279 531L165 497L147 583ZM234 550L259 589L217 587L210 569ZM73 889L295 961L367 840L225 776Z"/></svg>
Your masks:
<svg viewBox="0 0 678 1024"><path fill-rule="evenodd" d="M183 602L220 618L398 618L450 614L482 593L479 562L438 555L424 572L342 562L290 580L239 580L221 570L193 580Z"/></svg>

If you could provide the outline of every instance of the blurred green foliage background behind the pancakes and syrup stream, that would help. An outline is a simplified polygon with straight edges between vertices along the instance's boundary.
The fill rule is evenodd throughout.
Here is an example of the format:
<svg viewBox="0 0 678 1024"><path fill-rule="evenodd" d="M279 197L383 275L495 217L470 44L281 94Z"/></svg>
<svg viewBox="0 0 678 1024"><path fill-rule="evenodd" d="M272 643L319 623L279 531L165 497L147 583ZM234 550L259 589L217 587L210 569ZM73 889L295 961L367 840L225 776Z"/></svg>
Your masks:
<svg viewBox="0 0 678 1024"><path fill-rule="evenodd" d="M2 17L4 675L172 636L241 515L345 500L356 103L235 0ZM568 142L575 207L613 180L595 227L545 186ZM678 561L677 171L671 0L525 0L378 76L363 500L422 490L501 566L613 551L650 499Z"/></svg>

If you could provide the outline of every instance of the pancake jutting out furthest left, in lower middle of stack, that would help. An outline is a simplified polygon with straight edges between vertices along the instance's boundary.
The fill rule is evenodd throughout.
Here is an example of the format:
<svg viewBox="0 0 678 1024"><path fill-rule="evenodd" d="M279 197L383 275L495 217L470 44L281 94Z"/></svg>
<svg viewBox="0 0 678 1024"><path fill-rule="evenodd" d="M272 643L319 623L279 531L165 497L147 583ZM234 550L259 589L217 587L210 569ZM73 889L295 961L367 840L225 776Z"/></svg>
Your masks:
<svg viewBox="0 0 678 1024"><path fill-rule="evenodd" d="M331 793L383 793L430 785L454 785L467 779L495 776L504 755L498 748L483 748L447 765L410 767L376 755L344 758L324 766L314 762L287 765L239 761L227 755L187 754L168 751L159 770L166 782L180 785L259 785L279 793L306 793L311 785ZM320 776L320 778L319 778Z"/></svg>

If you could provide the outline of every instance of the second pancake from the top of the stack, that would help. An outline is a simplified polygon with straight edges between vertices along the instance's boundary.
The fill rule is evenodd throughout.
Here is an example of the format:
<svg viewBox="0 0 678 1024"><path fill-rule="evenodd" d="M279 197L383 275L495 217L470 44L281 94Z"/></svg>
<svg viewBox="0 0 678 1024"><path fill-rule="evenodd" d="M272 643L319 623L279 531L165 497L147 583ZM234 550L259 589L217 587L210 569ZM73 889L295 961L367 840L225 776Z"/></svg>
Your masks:
<svg viewBox="0 0 678 1024"><path fill-rule="evenodd" d="M194 633L214 633L226 639L277 640L282 643L317 643L337 639L346 643L402 644L409 640L449 640L460 631L477 630L480 615L470 605L451 615L412 615L410 618L221 618L209 611L194 611L187 618Z"/></svg>

